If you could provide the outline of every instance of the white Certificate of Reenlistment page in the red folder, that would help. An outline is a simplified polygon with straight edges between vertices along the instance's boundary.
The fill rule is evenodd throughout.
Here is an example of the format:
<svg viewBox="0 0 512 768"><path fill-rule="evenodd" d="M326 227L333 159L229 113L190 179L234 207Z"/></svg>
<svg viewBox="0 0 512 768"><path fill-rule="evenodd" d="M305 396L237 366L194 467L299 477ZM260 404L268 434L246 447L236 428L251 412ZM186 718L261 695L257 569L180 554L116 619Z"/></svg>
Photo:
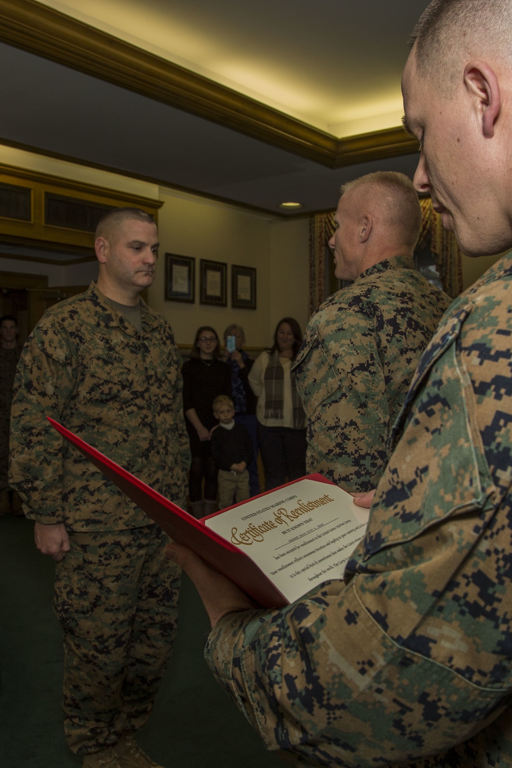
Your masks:
<svg viewBox="0 0 512 768"><path fill-rule="evenodd" d="M343 578L368 515L337 485L305 479L204 523L245 551L292 603L322 581Z"/></svg>

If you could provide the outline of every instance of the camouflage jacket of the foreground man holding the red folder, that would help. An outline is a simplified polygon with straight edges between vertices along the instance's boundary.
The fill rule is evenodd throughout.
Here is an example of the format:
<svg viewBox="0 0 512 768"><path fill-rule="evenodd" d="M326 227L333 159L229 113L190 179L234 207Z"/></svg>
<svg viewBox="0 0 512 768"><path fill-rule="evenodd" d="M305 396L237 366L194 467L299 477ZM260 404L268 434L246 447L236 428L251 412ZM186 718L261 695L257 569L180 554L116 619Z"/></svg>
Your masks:
<svg viewBox="0 0 512 768"><path fill-rule="evenodd" d="M434 335L345 581L210 634L214 674L296 763L459 768L457 745L493 741L500 759L471 764L512 760L509 287ZM508 735L491 725L502 713Z"/></svg>

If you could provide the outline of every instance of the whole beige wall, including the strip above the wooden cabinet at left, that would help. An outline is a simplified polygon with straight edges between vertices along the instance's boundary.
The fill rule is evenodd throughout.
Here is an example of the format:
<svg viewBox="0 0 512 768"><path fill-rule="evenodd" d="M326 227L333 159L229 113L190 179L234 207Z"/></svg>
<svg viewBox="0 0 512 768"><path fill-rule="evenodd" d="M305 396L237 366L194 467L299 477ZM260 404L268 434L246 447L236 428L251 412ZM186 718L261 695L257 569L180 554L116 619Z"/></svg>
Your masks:
<svg viewBox="0 0 512 768"><path fill-rule="evenodd" d="M296 317L304 330L308 319L308 220L280 220L235 206L157 187L107 171L0 146L0 163L38 170L87 184L162 200L158 212L160 257L149 302L173 326L179 344L190 344L198 326L222 334L230 323L246 331L248 346L268 345L282 316ZM196 259L196 302L164 300L165 253ZM200 259L228 264L228 306L199 303ZM255 266L256 310L230 309L230 265ZM97 276L96 263L58 266L0 257L0 270L44 274L49 286L83 285Z"/></svg>

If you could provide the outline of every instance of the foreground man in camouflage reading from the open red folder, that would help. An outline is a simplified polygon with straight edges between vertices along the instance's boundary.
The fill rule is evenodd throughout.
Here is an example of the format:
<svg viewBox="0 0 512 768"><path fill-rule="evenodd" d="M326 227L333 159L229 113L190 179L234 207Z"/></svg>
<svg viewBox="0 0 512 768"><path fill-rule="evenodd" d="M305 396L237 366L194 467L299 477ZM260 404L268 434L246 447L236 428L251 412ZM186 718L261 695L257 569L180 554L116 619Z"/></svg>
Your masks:
<svg viewBox="0 0 512 768"><path fill-rule="evenodd" d="M402 81L415 186L472 256L512 246L511 32L508 0L434 0ZM509 253L441 319L344 581L248 610L173 545L213 624L208 663L290 762L512 765L511 340Z"/></svg>

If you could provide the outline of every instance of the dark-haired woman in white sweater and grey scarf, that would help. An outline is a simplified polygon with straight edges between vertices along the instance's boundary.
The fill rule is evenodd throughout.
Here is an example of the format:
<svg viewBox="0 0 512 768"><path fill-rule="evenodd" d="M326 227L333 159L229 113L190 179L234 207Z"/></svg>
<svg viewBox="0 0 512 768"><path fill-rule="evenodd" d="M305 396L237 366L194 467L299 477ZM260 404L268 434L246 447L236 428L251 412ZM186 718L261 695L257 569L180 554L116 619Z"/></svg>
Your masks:
<svg viewBox="0 0 512 768"><path fill-rule="evenodd" d="M273 346L261 353L249 372L249 384L258 398L258 444L266 491L306 475L306 416L290 377L301 343L299 323L283 317Z"/></svg>

